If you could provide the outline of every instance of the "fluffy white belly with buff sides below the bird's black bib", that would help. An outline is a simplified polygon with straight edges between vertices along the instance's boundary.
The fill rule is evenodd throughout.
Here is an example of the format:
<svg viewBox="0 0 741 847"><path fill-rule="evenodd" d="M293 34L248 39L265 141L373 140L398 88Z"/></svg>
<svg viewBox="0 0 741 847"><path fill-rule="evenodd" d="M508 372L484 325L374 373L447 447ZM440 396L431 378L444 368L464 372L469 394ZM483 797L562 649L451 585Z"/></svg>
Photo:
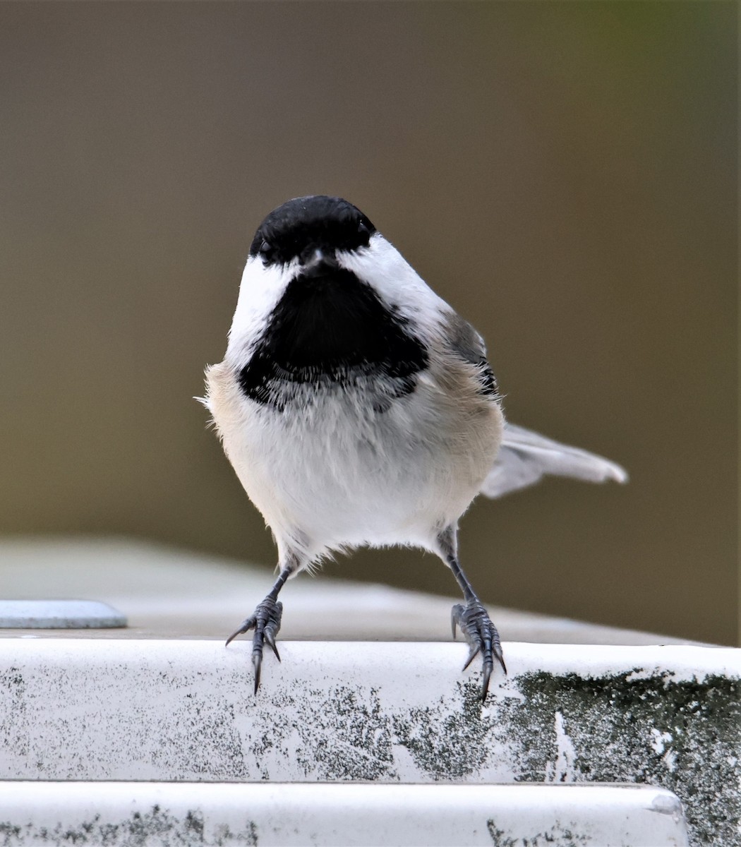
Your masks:
<svg viewBox="0 0 741 847"><path fill-rule="evenodd" d="M342 546L430 547L478 493L499 445L498 408L465 422L448 413L443 426L434 386L384 412L363 392L313 390L279 411L213 376L213 418L241 483L279 543L309 556Z"/></svg>

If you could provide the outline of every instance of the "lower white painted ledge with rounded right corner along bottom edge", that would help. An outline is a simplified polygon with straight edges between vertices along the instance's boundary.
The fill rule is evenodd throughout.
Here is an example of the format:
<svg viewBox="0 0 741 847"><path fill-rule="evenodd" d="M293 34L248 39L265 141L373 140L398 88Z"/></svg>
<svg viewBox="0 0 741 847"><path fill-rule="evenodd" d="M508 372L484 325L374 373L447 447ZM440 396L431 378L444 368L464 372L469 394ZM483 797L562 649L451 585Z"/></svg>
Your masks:
<svg viewBox="0 0 741 847"><path fill-rule="evenodd" d="M0 844L682 847L648 786L0 783Z"/></svg>

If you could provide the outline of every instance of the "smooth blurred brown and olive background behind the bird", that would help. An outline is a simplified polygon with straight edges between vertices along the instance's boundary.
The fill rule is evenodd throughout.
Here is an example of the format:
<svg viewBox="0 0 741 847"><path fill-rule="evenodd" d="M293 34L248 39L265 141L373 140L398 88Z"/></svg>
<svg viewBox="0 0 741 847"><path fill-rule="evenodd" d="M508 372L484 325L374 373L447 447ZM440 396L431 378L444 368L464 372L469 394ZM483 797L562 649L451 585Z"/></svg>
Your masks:
<svg viewBox="0 0 741 847"><path fill-rule="evenodd" d="M0 5L0 530L272 567L191 397L257 224L333 193L478 326L513 421L631 473L478 501L484 599L737 643L736 16ZM456 593L414 551L328 570Z"/></svg>

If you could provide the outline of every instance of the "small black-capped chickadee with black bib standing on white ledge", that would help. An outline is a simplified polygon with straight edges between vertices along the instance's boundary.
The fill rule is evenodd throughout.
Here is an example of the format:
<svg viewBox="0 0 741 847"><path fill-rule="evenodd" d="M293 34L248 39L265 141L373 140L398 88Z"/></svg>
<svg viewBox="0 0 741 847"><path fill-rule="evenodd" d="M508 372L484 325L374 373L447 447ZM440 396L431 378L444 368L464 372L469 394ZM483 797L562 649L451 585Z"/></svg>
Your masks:
<svg viewBox="0 0 741 847"><path fill-rule="evenodd" d="M606 458L510 424L481 335L341 197L296 197L252 240L224 361L200 398L246 494L271 529L278 577L229 635L252 634L254 690L285 582L358 547L422 548L462 591L451 629L481 656L484 701L500 635L463 572L458 521L560 475L623 483Z"/></svg>

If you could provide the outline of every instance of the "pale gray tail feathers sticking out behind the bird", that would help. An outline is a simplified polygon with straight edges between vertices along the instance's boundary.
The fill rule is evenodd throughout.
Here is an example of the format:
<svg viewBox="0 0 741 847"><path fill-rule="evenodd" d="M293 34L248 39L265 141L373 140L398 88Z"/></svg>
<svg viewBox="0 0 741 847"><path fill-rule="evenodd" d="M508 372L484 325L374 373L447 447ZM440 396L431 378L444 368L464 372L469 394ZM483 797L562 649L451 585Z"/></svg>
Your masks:
<svg viewBox="0 0 741 847"><path fill-rule="evenodd" d="M587 482L628 482L620 465L578 447L559 444L545 435L515 424L505 424L499 455L481 493L501 497L534 485L544 476L567 476Z"/></svg>

